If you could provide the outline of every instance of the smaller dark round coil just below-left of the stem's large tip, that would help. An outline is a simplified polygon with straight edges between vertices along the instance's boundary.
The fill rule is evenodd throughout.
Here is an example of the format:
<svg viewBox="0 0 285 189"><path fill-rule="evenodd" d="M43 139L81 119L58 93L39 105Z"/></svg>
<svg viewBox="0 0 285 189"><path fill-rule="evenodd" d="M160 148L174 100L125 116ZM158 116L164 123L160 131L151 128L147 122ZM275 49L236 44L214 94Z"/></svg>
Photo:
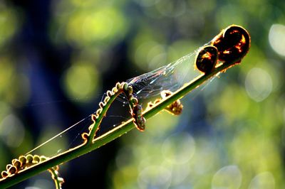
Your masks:
<svg viewBox="0 0 285 189"><path fill-rule="evenodd" d="M199 50L195 67L200 72L204 72L204 74L212 72L215 65L217 64L217 58L218 50L216 47L212 45L204 46L201 50Z"/></svg>

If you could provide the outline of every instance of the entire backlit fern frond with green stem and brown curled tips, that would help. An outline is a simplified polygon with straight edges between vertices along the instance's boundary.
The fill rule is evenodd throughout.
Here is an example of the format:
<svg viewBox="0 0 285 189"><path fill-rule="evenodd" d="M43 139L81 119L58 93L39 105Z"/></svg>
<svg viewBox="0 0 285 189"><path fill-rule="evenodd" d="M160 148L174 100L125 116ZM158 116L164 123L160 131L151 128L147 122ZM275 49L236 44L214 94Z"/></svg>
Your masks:
<svg viewBox="0 0 285 189"><path fill-rule="evenodd" d="M98 110L92 114L91 118L93 124L89 126L88 133L81 134L84 140L83 144L51 158L28 154L26 156L20 156L18 159L14 159L11 164L6 166L6 170L1 172L2 178L0 179L0 188L11 187L16 183L19 183L36 173L46 171L47 169L51 172L56 187L61 188L63 179L58 176L59 164L71 161L73 158L82 156L85 153L113 141L133 129L134 126L140 131L143 131L145 129L145 119L153 117L162 110L166 110L175 115L180 114L183 109L180 102L182 97L187 95L187 93L192 92L192 90L195 90L210 78L239 64L242 58L244 58L244 55L247 54L249 47L250 36L244 28L236 25L225 28L214 37L210 45L202 47L198 52L195 66L202 74L198 75L190 82L185 83L174 92L162 91L162 97L156 99L155 102L148 103L145 111L142 111L141 104L139 104L138 99L133 94L133 87L129 86L126 82L118 82L112 90L106 92L105 99L98 104ZM168 65L164 68L168 68ZM151 72L142 76L152 78L152 75L150 74ZM135 82L135 80L132 81L133 83ZM123 122L106 134L98 136L95 139L95 134L99 129L102 119L105 117L110 105L121 93L124 93L128 99L130 114L133 118Z"/></svg>

